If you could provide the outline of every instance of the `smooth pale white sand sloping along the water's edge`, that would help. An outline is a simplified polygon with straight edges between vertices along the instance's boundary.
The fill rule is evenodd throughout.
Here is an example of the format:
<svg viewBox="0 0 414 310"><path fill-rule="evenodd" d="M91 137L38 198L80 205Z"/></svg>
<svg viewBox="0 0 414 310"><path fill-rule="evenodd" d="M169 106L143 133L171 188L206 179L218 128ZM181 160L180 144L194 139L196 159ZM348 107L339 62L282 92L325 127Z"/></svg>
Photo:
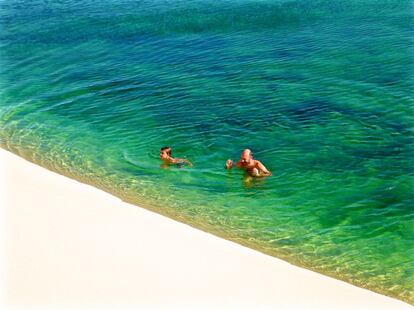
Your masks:
<svg viewBox="0 0 414 310"><path fill-rule="evenodd" d="M14 306L413 309L217 238L0 149L2 299Z"/></svg>

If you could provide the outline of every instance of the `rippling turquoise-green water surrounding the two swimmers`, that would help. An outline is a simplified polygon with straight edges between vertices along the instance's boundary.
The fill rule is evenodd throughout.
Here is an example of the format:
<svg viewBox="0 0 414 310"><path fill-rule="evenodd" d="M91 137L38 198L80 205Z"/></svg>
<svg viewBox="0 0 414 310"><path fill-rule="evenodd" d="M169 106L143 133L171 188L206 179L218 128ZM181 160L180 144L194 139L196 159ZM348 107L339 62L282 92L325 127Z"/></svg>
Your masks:
<svg viewBox="0 0 414 310"><path fill-rule="evenodd" d="M0 145L414 303L412 9L1 1ZM162 169L165 145L194 167ZM246 147L272 177L223 169Z"/></svg>

